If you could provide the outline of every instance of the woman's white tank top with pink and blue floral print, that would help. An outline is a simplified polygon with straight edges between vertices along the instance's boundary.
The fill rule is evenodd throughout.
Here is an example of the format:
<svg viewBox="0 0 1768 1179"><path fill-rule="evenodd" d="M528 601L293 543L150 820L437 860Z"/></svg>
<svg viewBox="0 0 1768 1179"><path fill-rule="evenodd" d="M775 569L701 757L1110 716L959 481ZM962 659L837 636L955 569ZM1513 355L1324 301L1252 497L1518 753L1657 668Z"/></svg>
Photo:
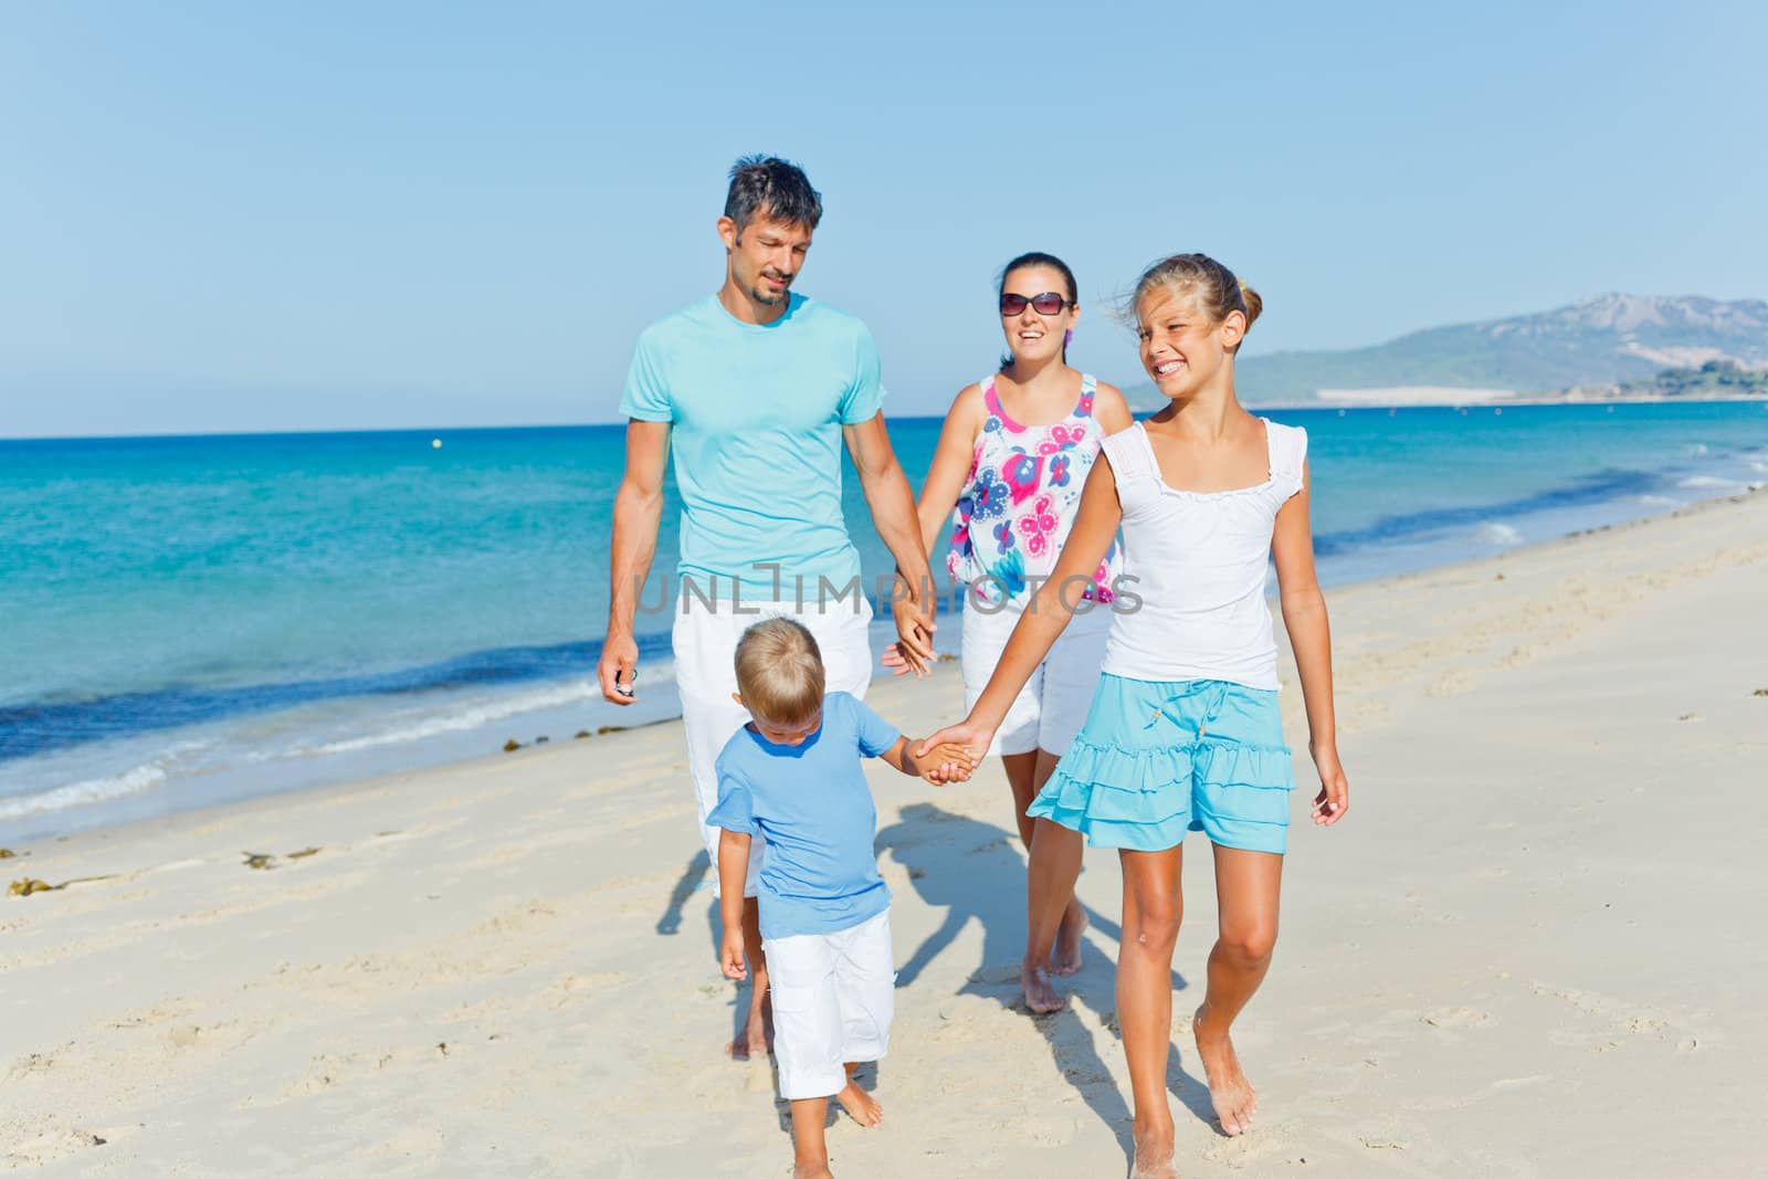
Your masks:
<svg viewBox="0 0 1768 1179"><path fill-rule="evenodd" d="M976 437L971 475L951 513L951 553L946 569L953 582L967 582L985 601L1025 597L1048 578L1075 523L1080 488L1100 453L1098 419L1091 373L1080 378L1080 401L1054 426L1020 426L995 394L994 377L983 385L988 417ZM1119 551L1112 539L1105 560L1093 573L1086 597L1112 599Z"/></svg>

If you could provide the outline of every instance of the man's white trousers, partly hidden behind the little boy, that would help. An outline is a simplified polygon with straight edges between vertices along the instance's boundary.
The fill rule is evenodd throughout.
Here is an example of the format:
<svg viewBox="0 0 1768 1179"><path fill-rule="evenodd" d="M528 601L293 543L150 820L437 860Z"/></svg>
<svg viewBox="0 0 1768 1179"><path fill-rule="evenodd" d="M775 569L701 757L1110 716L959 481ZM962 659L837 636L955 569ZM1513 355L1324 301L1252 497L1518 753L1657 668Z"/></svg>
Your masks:
<svg viewBox="0 0 1768 1179"><path fill-rule="evenodd" d="M693 794L700 804L700 836L713 857L713 889L718 893L718 827L707 827L705 817L718 806L718 755L732 734L750 723L748 711L730 698L737 689L737 640L762 619L789 617L803 622L822 650L824 686L827 691L845 691L861 700L872 682L872 605L865 597L836 599L819 606L806 601L743 603L735 613L732 603L707 606L688 597L686 610L675 615L675 686L681 691L681 725L688 735L688 772L693 776ZM755 896L755 882L762 870L764 840L750 841L750 879L744 896Z"/></svg>

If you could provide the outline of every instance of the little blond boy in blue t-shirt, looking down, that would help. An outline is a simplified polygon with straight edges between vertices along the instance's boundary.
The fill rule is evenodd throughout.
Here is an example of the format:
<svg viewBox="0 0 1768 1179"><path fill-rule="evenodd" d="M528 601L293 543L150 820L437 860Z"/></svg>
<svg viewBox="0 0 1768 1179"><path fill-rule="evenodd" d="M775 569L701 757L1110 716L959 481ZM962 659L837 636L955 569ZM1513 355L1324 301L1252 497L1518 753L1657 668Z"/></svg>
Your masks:
<svg viewBox="0 0 1768 1179"><path fill-rule="evenodd" d="M758 894L773 985L780 1096L792 1103L794 1179L829 1179L822 1122L833 1094L861 1126L884 1112L854 1084L889 1046L896 969L889 889L879 879L877 808L859 769L882 757L934 785L969 778L974 758L914 742L847 695L824 695L822 656L792 619L757 622L737 642L735 700L753 721L718 757L721 965L743 979L743 882L750 836L766 838Z"/></svg>

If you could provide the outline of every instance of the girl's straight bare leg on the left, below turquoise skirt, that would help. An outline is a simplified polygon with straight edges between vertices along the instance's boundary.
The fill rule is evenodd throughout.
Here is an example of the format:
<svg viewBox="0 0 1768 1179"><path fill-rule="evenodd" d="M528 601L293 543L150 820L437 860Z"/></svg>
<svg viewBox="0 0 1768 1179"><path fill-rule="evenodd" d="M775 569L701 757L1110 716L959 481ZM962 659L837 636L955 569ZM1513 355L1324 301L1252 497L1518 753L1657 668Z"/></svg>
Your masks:
<svg viewBox="0 0 1768 1179"><path fill-rule="evenodd" d="M1179 864L1185 847L1119 852L1123 861L1123 944L1117 949L1117 1027L1135 1099L1132 1179L1174 1179L1172 1110L1167 1108L1167 1053L1172 1046L1172 946L1185 901Z"/></svg>

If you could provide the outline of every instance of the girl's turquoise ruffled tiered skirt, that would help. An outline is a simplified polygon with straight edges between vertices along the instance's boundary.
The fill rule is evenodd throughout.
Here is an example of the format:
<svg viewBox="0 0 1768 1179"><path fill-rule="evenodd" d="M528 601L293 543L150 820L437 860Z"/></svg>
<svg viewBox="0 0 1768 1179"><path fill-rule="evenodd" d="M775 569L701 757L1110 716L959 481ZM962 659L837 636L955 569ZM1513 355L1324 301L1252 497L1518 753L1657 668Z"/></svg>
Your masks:
<svg viewBox="0 0 1768 1179"><path fill-rule="evenodd" d="M1294 785L1275 691L1105 673L1025 813L1094 847L1160 852L1202 831L1222 847L1282 854Z"/></svg>

